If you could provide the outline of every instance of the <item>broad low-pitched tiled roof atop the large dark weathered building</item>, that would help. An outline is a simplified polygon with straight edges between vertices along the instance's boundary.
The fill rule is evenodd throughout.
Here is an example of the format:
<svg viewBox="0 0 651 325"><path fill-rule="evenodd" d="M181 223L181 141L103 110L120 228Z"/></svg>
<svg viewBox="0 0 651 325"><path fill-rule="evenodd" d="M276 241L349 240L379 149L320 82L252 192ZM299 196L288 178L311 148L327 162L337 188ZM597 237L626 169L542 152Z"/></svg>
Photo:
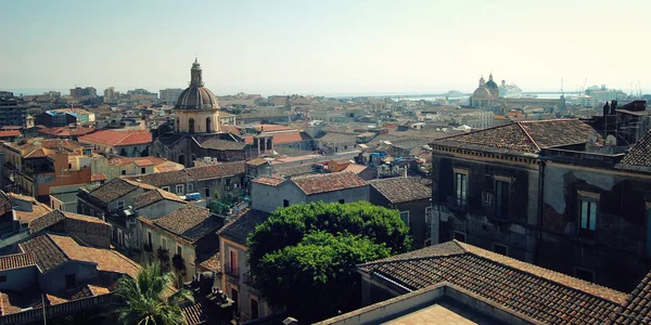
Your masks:
<svg viewBox="0 0 651 325"><path fill-rule="evenodd" d="M537 154L542 148L586 143L589 136L593 136L597 144L601 143L599 133L578 119L548 119L519 121L452 135L435 140L433 144Z"/></svg>

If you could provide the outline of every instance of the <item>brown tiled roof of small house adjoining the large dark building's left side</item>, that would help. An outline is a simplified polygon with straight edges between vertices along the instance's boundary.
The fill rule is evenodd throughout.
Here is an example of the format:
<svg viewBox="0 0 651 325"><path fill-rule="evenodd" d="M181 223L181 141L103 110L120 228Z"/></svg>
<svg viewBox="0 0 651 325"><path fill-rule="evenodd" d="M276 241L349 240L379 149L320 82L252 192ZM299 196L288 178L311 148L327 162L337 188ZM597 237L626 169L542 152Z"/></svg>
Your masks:
<svg viewBox="0 0 651 325"><path fill-rule="evenodd" d="M419 178L390 178L371 180L369 184L392 204L432 198L432 187Z"/></svg>

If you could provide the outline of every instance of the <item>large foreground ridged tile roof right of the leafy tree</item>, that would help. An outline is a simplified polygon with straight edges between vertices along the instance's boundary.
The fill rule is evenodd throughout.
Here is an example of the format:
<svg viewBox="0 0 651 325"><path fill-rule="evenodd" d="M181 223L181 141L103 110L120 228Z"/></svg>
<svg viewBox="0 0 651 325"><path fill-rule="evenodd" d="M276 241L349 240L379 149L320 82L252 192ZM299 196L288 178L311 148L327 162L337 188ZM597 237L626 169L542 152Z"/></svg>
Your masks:
<svg viewBox="0 0 651 325"><path fill-rule="evenodd" d="M457 240L358 265L411 290L447 282L546 324L599 324L626 295Z"/></svg>

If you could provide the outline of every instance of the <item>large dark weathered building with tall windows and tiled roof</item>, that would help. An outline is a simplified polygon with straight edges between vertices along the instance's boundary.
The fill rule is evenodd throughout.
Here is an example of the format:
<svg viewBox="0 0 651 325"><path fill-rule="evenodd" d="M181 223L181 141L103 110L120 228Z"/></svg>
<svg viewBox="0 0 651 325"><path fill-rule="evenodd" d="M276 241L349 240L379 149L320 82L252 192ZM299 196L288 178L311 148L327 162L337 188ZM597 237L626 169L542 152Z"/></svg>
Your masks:
<svg viewBox="0 0 651 325"><path fill-rule="evenodd" d="M578 120L436 141L432 242L455 238L629 290L650 268L651 164L631 157L649 156L643 141L625 155Z"/></svg>

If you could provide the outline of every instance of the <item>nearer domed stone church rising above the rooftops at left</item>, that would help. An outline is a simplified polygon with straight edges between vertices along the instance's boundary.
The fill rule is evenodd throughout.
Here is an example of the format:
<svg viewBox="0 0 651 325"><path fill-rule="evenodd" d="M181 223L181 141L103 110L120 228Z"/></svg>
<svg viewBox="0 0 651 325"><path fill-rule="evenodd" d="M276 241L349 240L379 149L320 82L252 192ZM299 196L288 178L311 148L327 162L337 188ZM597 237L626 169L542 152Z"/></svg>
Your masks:
<svg viewBox="0 0 651 325"><path fill-rule="evenodd" d="M273 153L272 138L264 132L246 143L225 129L219 122L219 101L204 86L195 58L190 68L190 86L174 106L174 119L152 132L151 154L193 167L196 159L237 161Z"/></svg>

